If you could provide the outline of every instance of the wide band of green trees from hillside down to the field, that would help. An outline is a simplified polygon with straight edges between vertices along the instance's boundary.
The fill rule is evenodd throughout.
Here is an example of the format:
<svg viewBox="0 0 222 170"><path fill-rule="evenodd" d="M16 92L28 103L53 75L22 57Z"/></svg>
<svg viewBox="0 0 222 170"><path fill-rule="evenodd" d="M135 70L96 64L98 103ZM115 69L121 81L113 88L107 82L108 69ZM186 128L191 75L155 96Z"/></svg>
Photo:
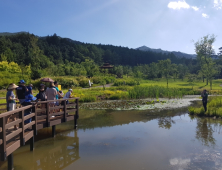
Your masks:
<svg viewBox="0 0 222 170"><path fill-rule="evenodd" d="M194 44L196 59L178 58L173 53L144 52L127 47L87 44L61 38L56 34L37 37L29 33L0 36L0 71L17 64L21 74L28 68L30 78L42 76L95 76L100 75L104 62L114 65L110 74L144 79L188 77L206 81L212 86L214 78L221 78L222 48L215 55L214 35L202 37ZM6 64L7 63L7 64ZM17 66L16 66L17 68ZM18 70L17 70L18 73ZM2 74L4 76L4 74Z"/></svg>

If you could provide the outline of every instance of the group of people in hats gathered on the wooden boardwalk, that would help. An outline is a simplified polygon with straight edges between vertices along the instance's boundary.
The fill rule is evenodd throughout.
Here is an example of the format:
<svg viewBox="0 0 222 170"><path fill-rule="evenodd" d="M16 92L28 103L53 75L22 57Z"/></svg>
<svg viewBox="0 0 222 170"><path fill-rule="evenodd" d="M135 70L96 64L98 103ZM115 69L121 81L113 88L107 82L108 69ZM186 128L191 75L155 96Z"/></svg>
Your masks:
<svg viewBox="0 0 222 170"><path fill-rule="evenodd" d="M7 102L7 111L15 110L16 108L16 101L19 101L21 106L28 106L31 105L32 101L46 101L50 100L49 103L50 107L58 106L58 101L52 101L57 99L68 99L72 97L72 89L69 89L69 91L63 96L63 92L59 91L58 89L58 82L51 82L49 87L46 88L44 84L40 84L38 90L39 93L36 95L36 97L33 96L32 91L33 85L29 84L28 86L25 86L25 81L20 80L19 85L15 85L14 83L9 84L7 88L6 93L6 102ZM14 91L15 90L15 94ZM66 103L68 103L68 100L66 100ZM62 103L64 104L64 103ZM41 108L45 108L45 104L41 104ZM28 112L25 112L25 116L29 114ZM14 120L16 119L15 116L11 116ZM9 121L10 117L8 118L7 122ZM29 123L31 121L27 120L26 122ZM15 126L15 128L17 128Z"/></svg>

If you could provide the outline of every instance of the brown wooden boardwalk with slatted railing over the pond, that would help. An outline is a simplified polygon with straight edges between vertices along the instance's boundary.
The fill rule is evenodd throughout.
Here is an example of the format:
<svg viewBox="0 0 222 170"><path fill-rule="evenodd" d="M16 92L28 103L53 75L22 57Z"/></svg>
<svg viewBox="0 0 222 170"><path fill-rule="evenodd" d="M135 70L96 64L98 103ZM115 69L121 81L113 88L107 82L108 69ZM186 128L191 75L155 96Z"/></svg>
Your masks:
<svg viewBox="0 0 222 170"><path fill-rule="evenodd" d="M69 101L68 104L66 104L66 100ZM59 106L50 107L50 103L55 101L60 103ZM52 127L52 137L54 137L58 124L74 120L73 125L76 128L79 117L78 101L79 98L69 98L37 102L0 114L0 160L8 160L8 170L13 169L12 153L24 146L28 140L30 150L34 150L34 136L37 135L39 129ZM15 116L16 120L10 120L7 123L10 116ZM18 127L16 130L14 130L15 125Z"/></svg>

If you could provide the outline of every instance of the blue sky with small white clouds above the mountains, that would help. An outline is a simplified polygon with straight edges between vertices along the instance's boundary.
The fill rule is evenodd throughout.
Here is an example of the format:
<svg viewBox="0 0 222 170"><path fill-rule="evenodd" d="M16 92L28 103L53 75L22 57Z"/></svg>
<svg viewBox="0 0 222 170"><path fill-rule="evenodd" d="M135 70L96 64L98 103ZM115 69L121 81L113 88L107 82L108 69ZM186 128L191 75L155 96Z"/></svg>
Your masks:
<svg viewBox="0 0 222 170"><path fill-rule="evenodd" d="M214 34L222 47L222 0L0 0L0 11L0 32L191 54Z"/></svg>

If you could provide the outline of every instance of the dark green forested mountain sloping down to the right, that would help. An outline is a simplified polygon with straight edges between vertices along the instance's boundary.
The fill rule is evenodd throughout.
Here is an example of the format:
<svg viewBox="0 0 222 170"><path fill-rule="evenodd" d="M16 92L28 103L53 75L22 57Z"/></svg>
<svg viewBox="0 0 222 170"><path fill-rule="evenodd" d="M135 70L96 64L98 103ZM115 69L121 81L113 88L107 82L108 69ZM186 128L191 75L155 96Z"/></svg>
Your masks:
<svg viewBox="0 0 222 170"><path fill-rule="evenodd" d="M173 63L190 63L192 59L178 58L173 53L155 53L139 51L113 45L86 44L69 38L53 36L38 37L29 33L0 34L0 54L7 61L45 68L49 62L64 63L66 60L81 63L92 59L101 65L109 62L113 65L135 66L149 64L158 60L171 59Z"/></svg>

